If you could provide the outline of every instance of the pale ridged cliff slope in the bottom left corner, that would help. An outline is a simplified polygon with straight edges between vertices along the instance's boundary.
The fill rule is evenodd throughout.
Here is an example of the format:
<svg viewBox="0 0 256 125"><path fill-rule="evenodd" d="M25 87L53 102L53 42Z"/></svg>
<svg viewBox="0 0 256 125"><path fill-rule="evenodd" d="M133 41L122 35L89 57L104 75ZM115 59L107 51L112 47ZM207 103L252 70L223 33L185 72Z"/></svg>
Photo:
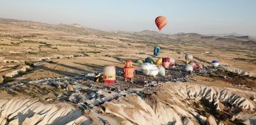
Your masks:
<svg viewBox="0 0 256 125"><path fill-rule="evenodd" d="M65 103L13 99L0 100L0 106L0 124L90 124L80 110Z"/></svg>

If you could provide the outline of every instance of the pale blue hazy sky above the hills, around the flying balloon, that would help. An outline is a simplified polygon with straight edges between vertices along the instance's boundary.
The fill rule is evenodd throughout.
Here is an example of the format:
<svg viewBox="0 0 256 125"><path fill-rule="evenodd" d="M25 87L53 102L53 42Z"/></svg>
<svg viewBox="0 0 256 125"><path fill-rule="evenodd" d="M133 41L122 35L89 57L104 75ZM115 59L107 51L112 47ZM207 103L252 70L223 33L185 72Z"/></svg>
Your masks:
<svg viewBox="0 0 256 125"><path fill-rule="evenodd" d="M256 36L256 0L0 0L0 17L42 23L80 23L100 30L161 31Z"/></svg>

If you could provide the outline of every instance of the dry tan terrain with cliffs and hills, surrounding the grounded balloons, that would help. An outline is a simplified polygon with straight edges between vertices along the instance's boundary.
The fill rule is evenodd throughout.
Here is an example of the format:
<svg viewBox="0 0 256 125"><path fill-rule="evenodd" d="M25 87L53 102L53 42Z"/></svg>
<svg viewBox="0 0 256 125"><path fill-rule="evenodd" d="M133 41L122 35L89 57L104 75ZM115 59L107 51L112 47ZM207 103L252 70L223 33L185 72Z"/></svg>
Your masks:
<svg viewBox="0 0 256 125"><path fill-rule="evenodd" d="M80 76L83 79L70 89L86 90L87 83L101 89L105 85L93 82L88 74L102 72L105 65L114 65L122 73L126 60L153 56L154 46L161 47L154 59L174 58L176 69L169 69L164 78L137 73L134 83L117 74L117 83L110 88L125 88L127 96L102 107L84 111L75 102L59 100L60 95L74 95L63 86L30 83L46 78L65 83L61 78ZM216 59L223 69L172 81L183 75L176 72L181 71L186 52L206 67ZM255 124L255 55L256 42L250 36L107 32L78 24L0 18L0 124L104 124L105 120L110 124ZM134 64L136 70L139 66ZM249 75L241 76L239 71ZM154 81L158 85L144 87Z"/></svg>

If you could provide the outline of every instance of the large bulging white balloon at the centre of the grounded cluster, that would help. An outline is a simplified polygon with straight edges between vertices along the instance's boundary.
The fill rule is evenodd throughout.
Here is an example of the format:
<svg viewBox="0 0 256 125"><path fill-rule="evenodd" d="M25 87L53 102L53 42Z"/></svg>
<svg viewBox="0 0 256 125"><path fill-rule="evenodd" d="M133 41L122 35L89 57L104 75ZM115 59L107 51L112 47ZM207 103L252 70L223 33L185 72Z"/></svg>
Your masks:
<svg viewBox="0 0 256 125"><path fill-rule="evenodd" d="M146 76L156 76L159 73L159 69L154 64L144 63L140 67Z"/></svg>

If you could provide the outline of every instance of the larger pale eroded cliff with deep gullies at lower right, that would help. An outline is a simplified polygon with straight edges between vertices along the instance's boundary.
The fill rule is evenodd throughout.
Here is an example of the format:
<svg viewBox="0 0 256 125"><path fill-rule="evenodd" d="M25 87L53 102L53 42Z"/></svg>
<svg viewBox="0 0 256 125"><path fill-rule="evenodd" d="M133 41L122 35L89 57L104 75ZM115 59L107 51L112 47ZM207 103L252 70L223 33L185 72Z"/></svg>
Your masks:
<svg viewBox="0 0 256 125"><path fill-rule="evenodd" d="M250 117L241 121L246 123L255 115L252 113L255 112L255 102L248 99L252 96L255 97L255 93L244 95L225 88L170 83L164 85L164 90L144 100L134 95L110 102L105 107L106 113L129 124L206 124L206 119L218 124L238 124L221 120L219 116L228 114L226 117L241 120L241 114L251 112ZM231 112L226 112L227 108ZM240 109L240 112L234 113L235 109Z"/></svg>

